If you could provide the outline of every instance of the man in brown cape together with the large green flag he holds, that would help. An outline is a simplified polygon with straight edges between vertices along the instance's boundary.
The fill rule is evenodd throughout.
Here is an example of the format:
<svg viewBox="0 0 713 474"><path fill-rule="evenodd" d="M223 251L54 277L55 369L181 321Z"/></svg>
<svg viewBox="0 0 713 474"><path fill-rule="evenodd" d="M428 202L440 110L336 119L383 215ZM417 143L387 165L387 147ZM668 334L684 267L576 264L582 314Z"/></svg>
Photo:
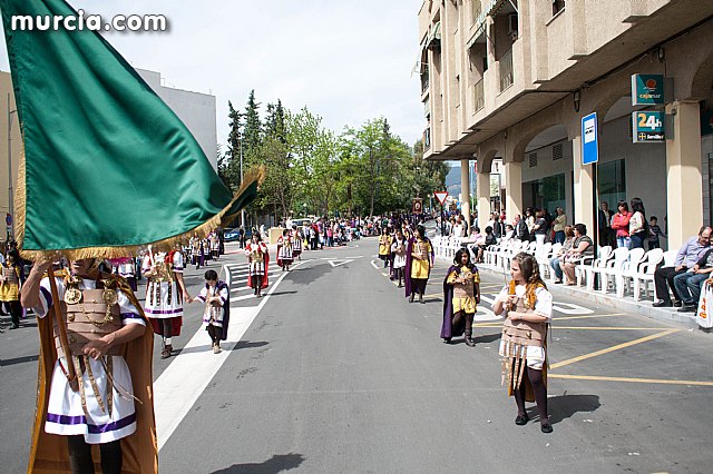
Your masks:
<svg viewBox="0 0 713 474"><path fill-rule="evenodd" d="M155 473L150 332L130 288L96 263L205 238L255 198L264 171L226 188L96 31L12 29L16 17L77 17L65 0L0 0L0 11L23 137L16 236L36 261L22 300L46 315L28 472ZM71 274L55 274L61 257Z"/></svg>

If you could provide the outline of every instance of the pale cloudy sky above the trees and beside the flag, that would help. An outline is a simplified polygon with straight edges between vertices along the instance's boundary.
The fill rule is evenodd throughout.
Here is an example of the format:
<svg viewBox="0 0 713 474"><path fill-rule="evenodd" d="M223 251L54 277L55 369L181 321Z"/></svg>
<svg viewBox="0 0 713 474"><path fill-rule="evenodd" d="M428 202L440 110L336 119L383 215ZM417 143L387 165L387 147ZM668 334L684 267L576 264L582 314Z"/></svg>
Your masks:
<svg viewBox="0 0 713 474"><path fill-rule="evenodd" d="M341 132L385 117L412 145L426 128L418 75L421 0L69 0L85 14L164 14L167 32L105 38L135 68L165 86L212 93L218 144L228 134L227 102L244 109L251 89L265 106L307 107ZM8 71L0 48L0 69Z"/></svg>

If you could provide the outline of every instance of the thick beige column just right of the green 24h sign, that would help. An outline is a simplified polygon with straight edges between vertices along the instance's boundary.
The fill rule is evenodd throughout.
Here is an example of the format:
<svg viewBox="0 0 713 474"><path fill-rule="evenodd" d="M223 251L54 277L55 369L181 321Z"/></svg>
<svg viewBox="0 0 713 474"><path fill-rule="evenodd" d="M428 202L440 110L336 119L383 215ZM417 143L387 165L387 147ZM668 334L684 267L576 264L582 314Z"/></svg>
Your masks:
<svg viewBox="0 0 713 474"><path fill-rule="evenodd" d="M674 102L673 140L666 140L668 249L699 234L703 225L701 112L699 102Z"/></svg>

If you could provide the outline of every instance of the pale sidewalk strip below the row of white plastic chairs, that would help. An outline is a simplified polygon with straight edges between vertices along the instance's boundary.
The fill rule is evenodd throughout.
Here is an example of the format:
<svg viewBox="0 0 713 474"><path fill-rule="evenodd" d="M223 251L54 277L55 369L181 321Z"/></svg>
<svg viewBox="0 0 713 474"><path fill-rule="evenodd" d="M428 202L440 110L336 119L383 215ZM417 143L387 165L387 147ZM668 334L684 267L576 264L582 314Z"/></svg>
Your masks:
<svg viewBox="0 0 713 474"><path fill-rule="evenodd" d="M437 257L437 259L442 263L450 263L450 260L447 258ZM478 269L480 270L480 273L487 273L498 276L502 275L501 271L490 266L478 265ZM652 319L677 324L686 328L700 328L695 320L694 313L678 313L678 308L655 308L652 306L652 302L648 299L635 302L631 296L618 298L616 294L613 293L607 293L605 295L598 290L589 292L586 287L554 285L549 282L546 283L547 289L549 289L554 295L565 295L595 305L611 306L623 313L635 313ZM653 292L653 289L651 292ZM711 333L710 330L703 328L701 328L701 330L704 333Z"/></svg>

